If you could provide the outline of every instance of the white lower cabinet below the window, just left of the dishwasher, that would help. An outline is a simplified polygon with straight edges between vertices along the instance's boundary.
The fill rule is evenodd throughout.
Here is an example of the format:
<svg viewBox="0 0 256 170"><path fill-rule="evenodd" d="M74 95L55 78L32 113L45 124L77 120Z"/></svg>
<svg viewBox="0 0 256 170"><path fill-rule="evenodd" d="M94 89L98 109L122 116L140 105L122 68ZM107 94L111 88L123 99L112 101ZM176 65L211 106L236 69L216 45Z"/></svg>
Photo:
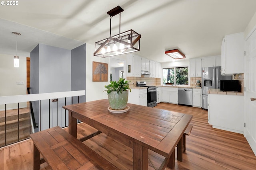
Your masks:
<svg viewBox="0 0 256 170"><path fill-rule="evenodd" d="M162 102L178 104L178 88L163 87L162 88Z"/></svg>

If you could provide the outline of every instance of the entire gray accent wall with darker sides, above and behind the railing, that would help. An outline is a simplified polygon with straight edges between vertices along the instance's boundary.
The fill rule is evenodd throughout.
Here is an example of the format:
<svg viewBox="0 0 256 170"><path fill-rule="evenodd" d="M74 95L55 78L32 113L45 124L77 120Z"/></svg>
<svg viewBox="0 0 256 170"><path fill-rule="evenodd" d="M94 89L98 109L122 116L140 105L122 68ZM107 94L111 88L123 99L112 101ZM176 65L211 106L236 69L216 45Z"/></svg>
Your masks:
<svg viewBox="0 0 256 170"><path fill-rule="evenodd" d="M38 44L30 53L30 84L31 94L85 90L86 44L73 50ZM60 98L58 104L42 100L41 112L39 102L33 102L36 123L41 130L68 125L68 111L62 106L77 102L78 97ZM85 96L80 96L79 102L85 102Z"/></svg>

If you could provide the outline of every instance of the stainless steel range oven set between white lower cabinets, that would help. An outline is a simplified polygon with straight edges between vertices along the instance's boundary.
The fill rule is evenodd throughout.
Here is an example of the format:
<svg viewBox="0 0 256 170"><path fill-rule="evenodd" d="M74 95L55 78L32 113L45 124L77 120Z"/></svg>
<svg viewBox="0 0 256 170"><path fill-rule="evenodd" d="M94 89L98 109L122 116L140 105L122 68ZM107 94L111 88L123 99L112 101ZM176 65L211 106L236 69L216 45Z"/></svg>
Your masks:
<svg viewBox="0 0 256 170"><path fill-rule="evenodd" d="M156 106L156 86L146 86L146 82L137 82L138 87L148 87L148 107Z"/></svg>

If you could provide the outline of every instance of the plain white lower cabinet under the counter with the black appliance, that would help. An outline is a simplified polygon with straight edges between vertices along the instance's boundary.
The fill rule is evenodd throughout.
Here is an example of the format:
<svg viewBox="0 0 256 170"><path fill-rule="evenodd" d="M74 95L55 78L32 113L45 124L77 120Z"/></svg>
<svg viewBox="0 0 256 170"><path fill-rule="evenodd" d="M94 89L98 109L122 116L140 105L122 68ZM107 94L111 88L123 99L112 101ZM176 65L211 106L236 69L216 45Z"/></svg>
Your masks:
<svg viewBox="0 0 256 170"><path fill-rule="evenodd" d="M244 133L244 96L209 94L208 119L213 128Z"/></svg>

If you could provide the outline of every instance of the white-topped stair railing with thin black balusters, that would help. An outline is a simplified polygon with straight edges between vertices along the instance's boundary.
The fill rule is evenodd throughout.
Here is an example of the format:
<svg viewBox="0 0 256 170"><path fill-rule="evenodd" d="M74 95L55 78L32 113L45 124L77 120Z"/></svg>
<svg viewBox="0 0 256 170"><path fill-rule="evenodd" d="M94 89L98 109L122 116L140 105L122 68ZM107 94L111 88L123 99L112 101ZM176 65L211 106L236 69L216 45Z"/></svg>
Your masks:
<svg viewBox="0 0 256 170"><path fill-rule="evenodd" d="M66 110L64 110L64 120L60 120L59 117L59 107L62 108L62 106L59 106L59 100L64 100L65 102L63 102L63 106L65 105L69 105L69 104L73 104L73 98L77 98L76 103L79 103L79 96L84 96L85 95L85 90L78 90L78 91L69 91L69 92L54 92L54 93L41 93L41 94L26 94L26 95L17 95L17 96L0 96L0 106L4 106L4 109L1 109L0 112L3 113L4 115L4 144L0 144L0 147L6 146L6 145L10 145L12 143L16 143L25 139L28 139L29 137L25 138L25 139L21 139L20 140L20 103L23 102L38 102L39 103L39 108L34 108L32 109L32 105L29 105L29 119L30 119L30 132L29 134L32 133L32 131L34 132L34 130L36 129L36 131L41 131L44 129L48 129L52 126L55 125L59 125L61 127L66 127L66 122L68 122L68 116L66 116ZM66 102L68 99L68 102ZM50 100L52 100L52 102L57 102L57 108L54 109L51 106L50 107ZM46 101L48 101L48 106L46 106L43 103L46 103ZM9 142L8 143L8 137L7 137L7 118L8 118L8 113L7 113L7 105L8 104L18 104L17 108L12 108L12 109L18 109L18 134L17 134L17 140L14 142ZM48 120L45 116L45 107L49 107L49 116L48 116ZM35 111L36 110L36 111ZM33 111L33 116L31 111ZM34 113L38 113L38 119L36 119ZM42 115L44 114L44 115ZM56 119L53 119L53 117L57 117ZM34 117L34 118L32 118ZM41 119L42 118L42 119ZM34 120L32 120L34 119ZM36 121L38 121L38 123L36 123ZM49 124L48 126L45 126L45 122L48 121ZM54 122L56 121L56 122ZM63 123L64 121L64 123ZM60 122L60 123L59 123ZM3 124L3 123L2 123ZM42 125L44 125L44 127L42 127ZM2 129L2 128L1 128ZM0 130L1 130L0 129ZM3 132L2 132L3 133ZM2 134L0 131L0 134ZM2 137L1 137L2 139Z"/></svg>

